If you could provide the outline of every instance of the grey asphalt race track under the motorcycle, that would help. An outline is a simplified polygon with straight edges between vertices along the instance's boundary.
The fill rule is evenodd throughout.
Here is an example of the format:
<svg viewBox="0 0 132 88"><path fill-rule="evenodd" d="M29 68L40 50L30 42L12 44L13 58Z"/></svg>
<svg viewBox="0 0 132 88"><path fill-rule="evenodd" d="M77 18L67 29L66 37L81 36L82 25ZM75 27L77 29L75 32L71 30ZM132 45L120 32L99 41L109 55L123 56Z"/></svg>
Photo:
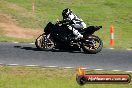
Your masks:
<svg viewBox="0 0 132 88"><path fill-rule="evenodd" d="M39 51L33 44L0 42L0 63L79 67L132 71L132 51L103 49L98 54L68 51Z"/></svg>

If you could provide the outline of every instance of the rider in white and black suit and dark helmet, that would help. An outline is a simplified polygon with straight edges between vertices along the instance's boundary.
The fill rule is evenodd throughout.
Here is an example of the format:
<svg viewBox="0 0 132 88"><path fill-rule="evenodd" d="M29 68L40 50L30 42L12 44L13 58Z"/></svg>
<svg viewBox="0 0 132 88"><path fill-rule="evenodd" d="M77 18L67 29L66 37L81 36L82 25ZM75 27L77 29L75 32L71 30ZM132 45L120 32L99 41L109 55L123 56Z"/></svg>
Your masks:
<svg viewBox="0 0 132 88"><path fill-rule="evenodd" d="M83 38L83 35L79 33L76 29L84 29L86 28L86 24L84 21L77 17L71 9L66 8L62 11L63 21L73 22L71 25L68 25L68 28L73 31L73 34L76 36L75 39Z"/></svg>

